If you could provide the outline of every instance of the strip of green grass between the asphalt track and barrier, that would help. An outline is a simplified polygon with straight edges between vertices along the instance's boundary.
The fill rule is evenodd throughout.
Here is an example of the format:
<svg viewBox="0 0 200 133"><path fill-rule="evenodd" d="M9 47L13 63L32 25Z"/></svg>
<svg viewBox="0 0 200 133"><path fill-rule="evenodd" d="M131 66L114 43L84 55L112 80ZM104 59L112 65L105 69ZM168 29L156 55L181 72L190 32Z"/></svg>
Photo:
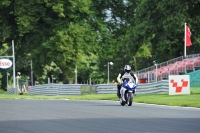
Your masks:
<svg viewBox="0 0 200 133"><path fill-rule="evenodd" d="M71 100L114 100L118 101L116 94L91 94L91 95L65 95L65 96L39 96L39 95L11 95L0 94L0 99L71 99ZM143 94L136 95L134 102L160 104L170 106L185 106L200 108L200 93L190 95L168 95L168 94Z"/></svg>

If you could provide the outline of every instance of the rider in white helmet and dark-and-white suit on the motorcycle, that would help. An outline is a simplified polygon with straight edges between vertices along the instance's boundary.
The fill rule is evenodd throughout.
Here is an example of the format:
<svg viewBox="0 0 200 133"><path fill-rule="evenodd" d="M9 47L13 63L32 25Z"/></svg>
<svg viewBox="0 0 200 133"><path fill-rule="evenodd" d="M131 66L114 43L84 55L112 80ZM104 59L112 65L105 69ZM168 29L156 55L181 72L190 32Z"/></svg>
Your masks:
<svg viewBox="0 0 200 133"><path fill-rule="evenodd" d="M130 65L125 65L124 66L124 70L120 71L120 73L118 74L117 76L117 96L119 98L121 98L121 95L120 95L120 90L121 90L121 87L122 87L122 79L123 79L123 76L124 75L130 75L133 77L135 83L137 84L138 83L138 77L136 74L133 73L133 71L131 71L131 66Z"/></svg>

